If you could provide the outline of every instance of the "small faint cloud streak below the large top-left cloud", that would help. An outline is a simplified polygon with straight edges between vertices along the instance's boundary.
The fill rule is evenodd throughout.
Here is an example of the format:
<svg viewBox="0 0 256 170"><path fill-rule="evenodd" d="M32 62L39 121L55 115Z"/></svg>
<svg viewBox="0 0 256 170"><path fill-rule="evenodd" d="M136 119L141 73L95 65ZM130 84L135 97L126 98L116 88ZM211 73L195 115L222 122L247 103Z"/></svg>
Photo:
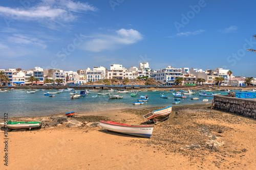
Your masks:
<svg viewBox="0 0 256 170"><path fill-rule="evenodd" d="M30 35L13 34L7 38L7 41L11 44L35 45L42 49L47 47L45 41Z"/></svg>

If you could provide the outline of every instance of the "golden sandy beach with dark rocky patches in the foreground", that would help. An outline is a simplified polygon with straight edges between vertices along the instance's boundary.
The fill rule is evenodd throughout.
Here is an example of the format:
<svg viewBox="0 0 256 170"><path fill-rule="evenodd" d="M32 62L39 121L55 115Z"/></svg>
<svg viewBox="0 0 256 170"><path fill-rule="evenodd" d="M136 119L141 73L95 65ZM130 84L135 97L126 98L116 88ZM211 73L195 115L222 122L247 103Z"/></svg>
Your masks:
<svg viewBox="0 0 256 170"><path fill-rule="evenodd" d="M85 124L13 130L8 132L8 166L1 161L0 168L254 169L256 121L211 110L209 106L173 107L170 118L155 125L151 138L108 132ZM75 119L81 123L105 119L138 125L145 122L141 115L153 109L158 108L87 112ZM50 125L56 116L61 115L11 119L41 120ZM1 133L4 140L3 128ZM4 144L0 145L2 159Z"/></svg>

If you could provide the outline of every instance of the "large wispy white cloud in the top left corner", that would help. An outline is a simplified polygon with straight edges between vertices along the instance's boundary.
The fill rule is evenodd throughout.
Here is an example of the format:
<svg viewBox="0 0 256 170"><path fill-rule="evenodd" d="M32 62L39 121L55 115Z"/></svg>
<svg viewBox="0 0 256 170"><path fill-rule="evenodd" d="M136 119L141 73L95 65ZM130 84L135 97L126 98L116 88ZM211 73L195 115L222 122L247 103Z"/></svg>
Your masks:
<svg viewBox="0 0 256 170"><path fill-rule="evenodd" d="M32 4L32 3L31 3ZM36 21L73 21L76 12L97 11L96 7L87 3L66 1L44 0L34 7L10 8L0 6L0 16L8 17L12 20L36 20Z"/></svg>

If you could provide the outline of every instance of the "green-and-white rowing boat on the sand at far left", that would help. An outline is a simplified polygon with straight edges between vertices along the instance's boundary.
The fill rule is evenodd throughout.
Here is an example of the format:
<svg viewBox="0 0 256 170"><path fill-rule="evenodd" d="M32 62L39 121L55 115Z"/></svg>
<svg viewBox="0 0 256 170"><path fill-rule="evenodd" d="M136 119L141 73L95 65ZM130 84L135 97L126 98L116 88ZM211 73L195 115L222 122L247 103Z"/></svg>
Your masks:
<svg viewBox="0 0 256 170"><path fill-rule="evenodd" d="M5 124L9 129L24 129L24 128L39 128L41 127L41 122L12 122L9 120Z"/></svg>

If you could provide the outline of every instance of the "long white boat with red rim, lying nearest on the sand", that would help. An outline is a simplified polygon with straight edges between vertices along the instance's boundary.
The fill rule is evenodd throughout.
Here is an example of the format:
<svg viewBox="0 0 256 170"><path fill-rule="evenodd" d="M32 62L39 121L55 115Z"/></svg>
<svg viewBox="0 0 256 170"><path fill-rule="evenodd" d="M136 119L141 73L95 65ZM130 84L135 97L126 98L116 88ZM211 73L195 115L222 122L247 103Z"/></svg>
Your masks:
<svg viewBox="0 0 256 170"><path fill-rule="evenodd" d="M154 126L147 125L126 125L120 124L116 122L104 122L100 120L99 126L108 131L123 133L127 135L139 136L139 137L147 137L150 138L153 133Z"/></svg>

